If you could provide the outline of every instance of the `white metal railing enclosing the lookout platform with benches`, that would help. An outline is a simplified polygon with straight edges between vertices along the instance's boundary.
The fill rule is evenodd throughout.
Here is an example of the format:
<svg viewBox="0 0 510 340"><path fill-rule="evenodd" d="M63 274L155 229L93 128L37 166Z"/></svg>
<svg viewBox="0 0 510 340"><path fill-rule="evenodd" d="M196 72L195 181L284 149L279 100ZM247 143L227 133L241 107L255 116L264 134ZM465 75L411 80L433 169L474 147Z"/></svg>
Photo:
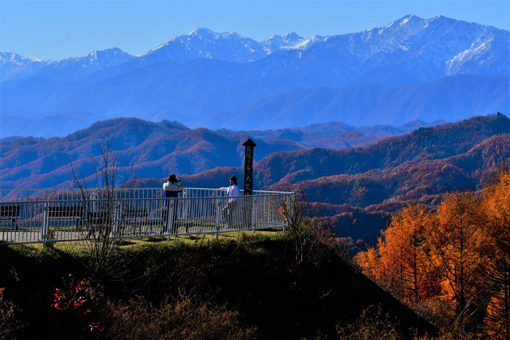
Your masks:
<svg viewBox="0 0 510 340"><path fill-rule="evenodd" d="M285 227L278 209L294 198L265 191L225 197L224 191L202 188L186 188L180 198L162 198L159 188L119 190L122 198L110 199L96 192L82 199L70 190L2 190L0 244L87 240L105 222L113 239L254 232Z"/></svg>

